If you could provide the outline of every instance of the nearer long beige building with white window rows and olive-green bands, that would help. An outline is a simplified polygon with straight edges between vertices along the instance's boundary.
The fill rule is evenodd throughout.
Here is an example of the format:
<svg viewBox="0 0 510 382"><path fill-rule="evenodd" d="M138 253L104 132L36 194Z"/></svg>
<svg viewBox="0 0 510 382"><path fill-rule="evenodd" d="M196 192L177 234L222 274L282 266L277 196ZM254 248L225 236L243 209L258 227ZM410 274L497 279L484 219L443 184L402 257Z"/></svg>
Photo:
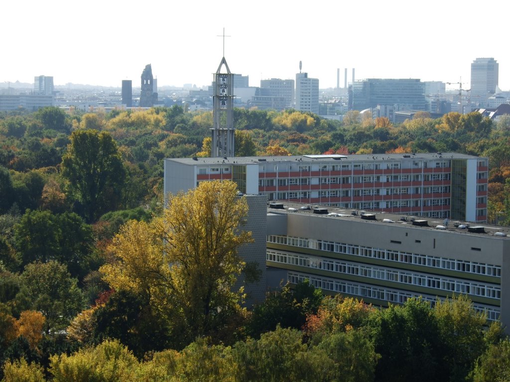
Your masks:
<svg viewBox="0 0 510 382"><path fill-rule="evenodd" d="M269 280L309 279L325 293L378 306L467 294L488 319L510 324L508 227L304 208L269 204Z"/></svg>

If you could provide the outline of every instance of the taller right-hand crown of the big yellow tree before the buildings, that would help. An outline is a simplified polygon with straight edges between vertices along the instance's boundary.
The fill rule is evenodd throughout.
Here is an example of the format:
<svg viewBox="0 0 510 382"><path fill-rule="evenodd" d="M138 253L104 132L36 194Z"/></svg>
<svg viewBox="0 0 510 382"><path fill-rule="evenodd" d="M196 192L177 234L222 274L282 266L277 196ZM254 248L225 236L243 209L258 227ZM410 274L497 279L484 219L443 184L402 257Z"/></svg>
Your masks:
<svg viewBox="0 0 510 382"><path fill-rule="evenodd" d="M191 333L208 333L239 308L232 290L243 262L241 245L252 241L242 230L248 207L231 181L203 182L169 199L156 224L172 264L170 288Z"/></svg>

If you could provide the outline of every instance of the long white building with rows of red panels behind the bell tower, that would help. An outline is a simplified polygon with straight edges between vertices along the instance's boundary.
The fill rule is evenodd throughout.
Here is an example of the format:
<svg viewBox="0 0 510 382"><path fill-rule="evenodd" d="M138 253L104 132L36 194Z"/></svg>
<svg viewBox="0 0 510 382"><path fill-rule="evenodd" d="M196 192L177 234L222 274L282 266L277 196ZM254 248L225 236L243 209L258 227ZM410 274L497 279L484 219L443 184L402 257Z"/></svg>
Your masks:
<svg viewBox="0 0 510 382"><path fill-rule="evenodd" d="M164 192L232 179L267 200L487 221L488 159L457 153L165 159Z"/></svg>

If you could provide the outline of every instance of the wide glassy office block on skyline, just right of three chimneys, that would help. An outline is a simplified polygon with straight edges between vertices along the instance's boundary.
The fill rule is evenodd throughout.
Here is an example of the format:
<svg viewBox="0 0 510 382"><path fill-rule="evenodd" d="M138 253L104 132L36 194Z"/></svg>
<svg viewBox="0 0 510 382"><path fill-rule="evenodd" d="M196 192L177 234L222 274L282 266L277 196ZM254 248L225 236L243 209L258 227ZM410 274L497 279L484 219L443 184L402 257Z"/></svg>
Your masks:
<svg viewBox="0 0 510 382"><path fill-rule="evenodd" d="M416 78L369 78L349 87L349 110L393 105L395 111L427 111L425 84Z"/></svg>

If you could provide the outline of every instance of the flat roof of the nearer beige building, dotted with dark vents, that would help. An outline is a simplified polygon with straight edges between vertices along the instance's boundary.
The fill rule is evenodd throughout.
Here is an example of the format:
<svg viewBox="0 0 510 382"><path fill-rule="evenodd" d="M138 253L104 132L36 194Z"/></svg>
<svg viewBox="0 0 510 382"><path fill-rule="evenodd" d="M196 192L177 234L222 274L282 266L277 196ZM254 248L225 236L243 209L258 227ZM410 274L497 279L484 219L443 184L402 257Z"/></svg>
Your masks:
<svg viewBox="0 0 510 382"><path fill-rule="evenodd" d="M316 212L320 213L316 213L314 210L319 210ZM439 219L437 217L399 215L380 211L354 210L348 208L321 206L315 204L302 204L277 200L268 202L267 212L276 214L312 214L316 216L317 219L364 221L367 223L394 226L396 225L407 228L416 228L420 230L442 230L459 234L494 236L502 239L510 239L510 227L495 226L485 223L467 223L449 219L446 225L444 219Z"/></svg>

